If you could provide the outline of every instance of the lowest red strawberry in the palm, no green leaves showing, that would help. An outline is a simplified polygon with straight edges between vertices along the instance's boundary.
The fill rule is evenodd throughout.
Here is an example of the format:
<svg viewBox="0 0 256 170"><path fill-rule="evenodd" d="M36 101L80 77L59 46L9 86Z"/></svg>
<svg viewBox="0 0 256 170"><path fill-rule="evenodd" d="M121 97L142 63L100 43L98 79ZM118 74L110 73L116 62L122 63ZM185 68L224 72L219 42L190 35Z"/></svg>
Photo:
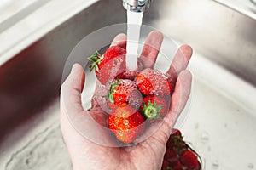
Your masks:
<svg viewBox="0 0 256 170"><path fill-rule="evenodd" d="M108 117L108 127L119 141L129 144L143 132L144 117L127 104L119 105Z"/></svg>

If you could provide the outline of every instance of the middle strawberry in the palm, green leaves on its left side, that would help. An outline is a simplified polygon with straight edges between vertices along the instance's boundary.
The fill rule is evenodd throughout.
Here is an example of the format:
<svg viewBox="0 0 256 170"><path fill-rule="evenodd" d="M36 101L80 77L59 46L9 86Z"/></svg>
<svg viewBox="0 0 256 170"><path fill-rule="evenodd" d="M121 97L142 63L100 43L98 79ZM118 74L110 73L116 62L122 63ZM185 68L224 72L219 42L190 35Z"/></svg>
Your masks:
<svg viewBox="0 0 256 170"><path fill-rule="evenodd" d="M128 79L114 81L108 91L108 106L114 109L123 103L139 108L142 102L142 94L137 90L137 84Z"/></svg>

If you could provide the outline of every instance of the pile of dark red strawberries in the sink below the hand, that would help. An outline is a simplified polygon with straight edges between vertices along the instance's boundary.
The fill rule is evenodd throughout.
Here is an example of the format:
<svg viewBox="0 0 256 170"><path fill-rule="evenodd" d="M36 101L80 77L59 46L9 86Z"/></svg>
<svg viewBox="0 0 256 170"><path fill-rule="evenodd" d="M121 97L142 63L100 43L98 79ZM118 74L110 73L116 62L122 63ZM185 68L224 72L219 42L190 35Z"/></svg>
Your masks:
<svg viewBox="0 0 256 170"><path fill-rule="evenodd" d="M174 129L166 144L162 170L201 170L201 159L183 141L182 133Z"/></svg>

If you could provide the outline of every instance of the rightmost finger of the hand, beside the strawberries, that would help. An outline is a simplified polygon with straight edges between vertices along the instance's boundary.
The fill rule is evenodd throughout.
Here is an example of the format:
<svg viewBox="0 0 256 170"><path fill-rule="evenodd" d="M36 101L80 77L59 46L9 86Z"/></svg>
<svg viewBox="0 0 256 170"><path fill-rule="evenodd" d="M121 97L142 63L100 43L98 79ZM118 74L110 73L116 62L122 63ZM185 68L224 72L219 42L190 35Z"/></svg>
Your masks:
<svg viewBox="0 0 256 170"><path fill-rule="evenodd" d="M189 99L191 81L192 76L189 71L182 71L177 77L177 88L172 94L170 111L164 118L160 128L152 136L153 139L159 139L161 143L166 143L169 139L172 127Z"/></svg>

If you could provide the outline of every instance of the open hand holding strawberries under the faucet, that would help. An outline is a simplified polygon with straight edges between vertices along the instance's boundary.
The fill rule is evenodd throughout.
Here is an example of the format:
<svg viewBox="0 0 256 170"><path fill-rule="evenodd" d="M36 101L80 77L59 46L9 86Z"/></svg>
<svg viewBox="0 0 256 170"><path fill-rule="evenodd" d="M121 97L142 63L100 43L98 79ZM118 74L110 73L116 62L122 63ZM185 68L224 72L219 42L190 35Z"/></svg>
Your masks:
<svg viewBox="0 0 256 170"><path fill-rule="evenodd" d="M148 35L142 53L147 59L140 58L144 68L154 67L162 40L163 36L158 31L153 31ZM119 34L112 42L112 45L119 45L123 48L125 48L125 44L125 34ZM177 121L177 117L183 111L189 98L191 74L185 69L191 55L192 48L183 45L178 49L169 71L166 72L169 79L172 82L176 82L176 86L172 94L170 111L160 124L160 128L143 142L127 147L109 147L96 144L84 138L74 129L68 119L67 112L71 112L75 116L90 115L100 124L105 124L106 117L102 114L100 106L96 104L95 98L92 99L91 110L83 110L81 92L84 88L84 69L79 64L73 65L70 75L61 87L60 120L61 132L67 144L73 169L160 169L166 152L166 141L172 133L172 127ZM65 102L63 96L68 96L65 98ZM108 138L110 136L109 133L100 133L102 133L102 136L99 138Z"/></svg>

